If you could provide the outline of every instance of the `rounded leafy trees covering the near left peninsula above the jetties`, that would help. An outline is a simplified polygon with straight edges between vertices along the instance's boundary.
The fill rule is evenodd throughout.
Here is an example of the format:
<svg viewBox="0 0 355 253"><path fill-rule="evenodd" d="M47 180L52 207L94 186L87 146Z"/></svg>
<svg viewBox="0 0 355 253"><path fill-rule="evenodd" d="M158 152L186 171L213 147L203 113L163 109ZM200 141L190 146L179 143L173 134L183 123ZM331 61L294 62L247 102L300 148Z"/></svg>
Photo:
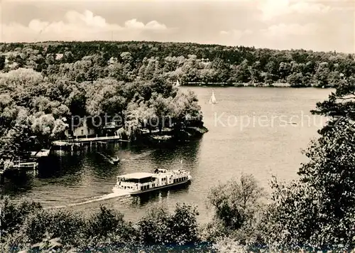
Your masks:
<svg viewBox="0 0 355 253"><path fill-rule="evenodd" d="M144 128L162 132L169 127L178 133L202 126L195 94L180 92L160 72L142 70L136 76L131 53L121 53L122 63L108 65L100 55L75 61L67 51L65 61L57 63L55 55L44 58L41 52L17 48L8 55L14 62L5 64L12 67L0 72L1 157L28 154L30 136L38 137L39 147L49 146L80 117L87 117L97 133L104 119L116 119L129 137Z"/></svg>

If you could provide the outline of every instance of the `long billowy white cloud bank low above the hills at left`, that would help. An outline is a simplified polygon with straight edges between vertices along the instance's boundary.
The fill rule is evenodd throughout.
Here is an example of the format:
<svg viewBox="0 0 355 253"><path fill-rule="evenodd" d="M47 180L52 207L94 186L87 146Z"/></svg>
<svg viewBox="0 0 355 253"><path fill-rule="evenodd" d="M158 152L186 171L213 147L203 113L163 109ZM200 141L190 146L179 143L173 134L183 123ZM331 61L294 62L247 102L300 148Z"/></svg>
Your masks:
<svg viewBox="0 0 355 253"><path fill-rule="evenodd" d="M147 33L170 31L170 28L158 21L143 23L133 18L120 26L107 23L102 16L92 11L67 11L62 21L40 21L33 19L24 26L20 23L3 23L1 41L108 41L114 35L116 40L140 40ZM144 36L142 35L144 33Z"/></svg>

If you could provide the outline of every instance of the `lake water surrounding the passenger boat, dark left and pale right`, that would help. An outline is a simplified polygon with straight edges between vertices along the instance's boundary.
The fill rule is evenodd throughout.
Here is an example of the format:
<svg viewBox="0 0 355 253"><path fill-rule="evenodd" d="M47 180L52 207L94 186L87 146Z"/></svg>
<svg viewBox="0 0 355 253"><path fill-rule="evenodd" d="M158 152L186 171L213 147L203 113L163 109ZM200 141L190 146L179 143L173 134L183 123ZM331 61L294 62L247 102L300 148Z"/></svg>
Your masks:
<svg viewBox="0 0 355 253"><path fill-rule="evenodd" d="M211 88L181 89L193 90L200 100L204 124L209 129L202 139L165 149L129 144L87 147L71 155L55 156L37 178L6 181L2 194L39 201L45 207L72 205L71 210L85 214L104 204L132 221L156 203L165 203L173 210L176 203L185 202L197 205L199 221L206 222L212 217L206 196L209 188L219 182L238 178L243 172L251 173L270 190L272 175L283 181L297 178L300 163L307 161L301 150L317 137L317 129L325 122L324 118L310 114L310 110L332 91L220 87L214 89L218 104L208 104ZM116 166L105 163L95 149L107 149L123 161ZM144 198L107 198L119 174L181 166L189 169L194 178L190 185ZM80 203L84 204L75 205Z"/></svg>

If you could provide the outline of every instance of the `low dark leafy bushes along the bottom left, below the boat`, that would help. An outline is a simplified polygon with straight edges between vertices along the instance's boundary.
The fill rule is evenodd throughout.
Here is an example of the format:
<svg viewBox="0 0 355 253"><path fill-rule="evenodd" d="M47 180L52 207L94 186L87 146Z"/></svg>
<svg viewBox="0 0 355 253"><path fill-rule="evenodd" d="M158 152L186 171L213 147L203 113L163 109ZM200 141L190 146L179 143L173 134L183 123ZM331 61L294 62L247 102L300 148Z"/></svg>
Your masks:
<svg viewBox="0 0 355 253"><path fill-rule="evenodd" d="M159 205L135 225L114 210L101 207L84 218L66 210L43 210L36 203L4 200L1 213L1 252L60 249L80 252L136 249L198 249L198 215L189 205L173 214ZM42 252L42 251L41 251Z"/></svg>

